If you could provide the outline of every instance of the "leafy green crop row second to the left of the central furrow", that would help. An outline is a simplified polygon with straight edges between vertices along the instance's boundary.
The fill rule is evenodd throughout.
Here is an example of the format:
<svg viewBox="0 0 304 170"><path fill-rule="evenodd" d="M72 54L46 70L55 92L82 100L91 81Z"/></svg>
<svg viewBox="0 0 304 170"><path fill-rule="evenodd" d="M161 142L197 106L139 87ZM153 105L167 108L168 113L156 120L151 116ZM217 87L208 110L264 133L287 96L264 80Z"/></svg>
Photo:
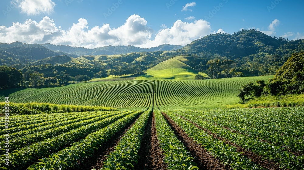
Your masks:
<svg viewBox="0 0 304 170"><path fill-rule="evenodd" d="M94 152L128 123L133 121L143 111L137 111L126 117L120 118L112 124L88 134L80 141L74 142L71 147L64 148L57 153L51 154L48 158L39 159L40 162L31 165L28 170L38 169L68 169L77 168L78 161L91 157Z"/></svg>

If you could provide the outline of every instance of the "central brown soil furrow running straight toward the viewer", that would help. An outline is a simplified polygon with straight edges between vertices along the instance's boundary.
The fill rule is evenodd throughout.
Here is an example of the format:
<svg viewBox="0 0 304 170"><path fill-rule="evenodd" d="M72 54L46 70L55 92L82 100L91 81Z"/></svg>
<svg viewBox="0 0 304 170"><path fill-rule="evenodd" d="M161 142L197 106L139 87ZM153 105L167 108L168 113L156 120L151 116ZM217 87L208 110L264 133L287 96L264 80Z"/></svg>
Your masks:
<svg viewBox="0 0 304 170"><path fill-rule="evenodd" d="M149 118L145 134L139 150L140 159L135 165L135 170L164 170L167 165L163 162L163 151L159 147L156 135L154 112Z"/></svg>

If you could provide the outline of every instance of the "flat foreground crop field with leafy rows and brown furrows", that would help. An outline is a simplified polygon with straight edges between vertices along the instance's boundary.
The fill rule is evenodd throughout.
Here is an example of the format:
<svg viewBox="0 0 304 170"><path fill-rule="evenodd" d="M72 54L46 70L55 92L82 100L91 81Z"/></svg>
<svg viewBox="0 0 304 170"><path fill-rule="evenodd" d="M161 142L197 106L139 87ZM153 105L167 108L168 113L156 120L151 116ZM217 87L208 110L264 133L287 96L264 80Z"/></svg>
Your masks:
<svg viewBox="0 0 304 170"><path fill-rule="evenodd" d="M9 169L303 169L303 113L303 107L150 106L16 115ZM21 120L25 125L17 126Z"/></svg>

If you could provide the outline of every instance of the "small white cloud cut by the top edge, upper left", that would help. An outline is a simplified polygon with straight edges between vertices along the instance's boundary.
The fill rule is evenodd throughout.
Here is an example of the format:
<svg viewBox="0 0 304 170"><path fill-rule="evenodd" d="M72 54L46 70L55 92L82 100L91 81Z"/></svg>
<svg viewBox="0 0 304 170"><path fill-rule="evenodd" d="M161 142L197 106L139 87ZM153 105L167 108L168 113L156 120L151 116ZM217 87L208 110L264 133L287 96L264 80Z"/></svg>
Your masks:
<svg viewBox="0 0 304 170"><path fill-rule="evenodd" d="M40 13L50 14L54 11L55 3L51 0L13 0L21 12L27 15L38 15Z"/></svg>

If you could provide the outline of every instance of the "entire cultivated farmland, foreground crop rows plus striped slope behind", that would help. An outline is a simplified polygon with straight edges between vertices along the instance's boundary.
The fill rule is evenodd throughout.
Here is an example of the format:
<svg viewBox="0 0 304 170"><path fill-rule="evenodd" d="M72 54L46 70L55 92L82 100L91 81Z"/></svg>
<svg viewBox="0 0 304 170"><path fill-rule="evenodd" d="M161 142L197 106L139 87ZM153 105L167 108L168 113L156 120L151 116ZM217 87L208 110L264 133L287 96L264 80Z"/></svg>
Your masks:
<svg viewBox="0 0 304 170"><path fill-rule="evenodd" d="M41 114L11 115L9 127L0 127L0 168L304 169L304 107L221 108L238 102L242 84L268 78L2 90L16 103L52 104L16 104Z"/></svg>

